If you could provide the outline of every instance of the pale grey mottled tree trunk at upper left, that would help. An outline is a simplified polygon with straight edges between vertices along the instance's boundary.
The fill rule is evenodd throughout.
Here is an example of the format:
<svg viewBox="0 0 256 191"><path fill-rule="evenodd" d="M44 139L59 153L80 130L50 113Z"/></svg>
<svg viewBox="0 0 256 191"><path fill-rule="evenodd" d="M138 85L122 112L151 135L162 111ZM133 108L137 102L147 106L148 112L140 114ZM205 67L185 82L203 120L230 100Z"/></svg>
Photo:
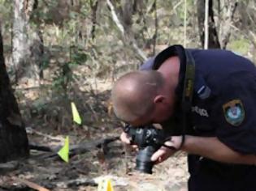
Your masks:
<svg viewBox="0 0 256 191"><path fill-rule="evenodd" d="M15 66L16 83L27 77L38 85L43 55L43 40L39 29L29 26L37 0L15 0L12 36L12 61Z"/></svg>

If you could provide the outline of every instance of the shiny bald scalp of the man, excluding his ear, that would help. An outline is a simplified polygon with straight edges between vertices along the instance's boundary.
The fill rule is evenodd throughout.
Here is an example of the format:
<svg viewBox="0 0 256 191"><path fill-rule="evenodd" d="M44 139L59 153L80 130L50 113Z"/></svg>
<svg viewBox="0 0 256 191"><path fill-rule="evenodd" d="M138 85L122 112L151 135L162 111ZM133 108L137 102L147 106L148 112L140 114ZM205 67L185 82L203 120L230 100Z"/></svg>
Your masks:
<svg viewBox="0 0 256 191"><path fill-rule="evenodd" d="M162 74L155 70L124 74L111 92L115 115L124 121L134 121L149 114L163 83Z"/></svg>

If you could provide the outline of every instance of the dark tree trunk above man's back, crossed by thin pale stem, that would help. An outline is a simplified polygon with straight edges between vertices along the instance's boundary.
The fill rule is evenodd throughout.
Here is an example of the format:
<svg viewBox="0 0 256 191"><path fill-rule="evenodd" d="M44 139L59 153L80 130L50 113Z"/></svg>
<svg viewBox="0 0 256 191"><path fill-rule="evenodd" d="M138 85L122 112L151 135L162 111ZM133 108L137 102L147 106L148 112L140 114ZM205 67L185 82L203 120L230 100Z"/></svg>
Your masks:
<svg viewBox="0 0 256 191"><path fill-rule="evenodd" d="M198 28L200 34L200 40L202 47L204 47L205 30L204 30L204 18L205 18L205 0L197 1L197 20ZM214 11L213 11L213 1L209 0L209 18L208 18L208 31L209 31L209 49L220 49L219 37L215 26Z"/></svg>

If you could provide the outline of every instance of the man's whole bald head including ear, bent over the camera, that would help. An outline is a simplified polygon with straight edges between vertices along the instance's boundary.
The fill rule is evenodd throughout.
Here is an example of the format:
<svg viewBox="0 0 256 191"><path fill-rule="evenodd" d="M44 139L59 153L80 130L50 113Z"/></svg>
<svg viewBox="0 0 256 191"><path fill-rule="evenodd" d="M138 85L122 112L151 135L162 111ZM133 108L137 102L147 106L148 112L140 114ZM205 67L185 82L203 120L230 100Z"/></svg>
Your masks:
<svg viewBox="0 0 256 191"><path fill-rule="evenodd" d="M112 90L115 113L132 125L165 121L173 112L174 87L158 71L125 74Z"/></svg>

